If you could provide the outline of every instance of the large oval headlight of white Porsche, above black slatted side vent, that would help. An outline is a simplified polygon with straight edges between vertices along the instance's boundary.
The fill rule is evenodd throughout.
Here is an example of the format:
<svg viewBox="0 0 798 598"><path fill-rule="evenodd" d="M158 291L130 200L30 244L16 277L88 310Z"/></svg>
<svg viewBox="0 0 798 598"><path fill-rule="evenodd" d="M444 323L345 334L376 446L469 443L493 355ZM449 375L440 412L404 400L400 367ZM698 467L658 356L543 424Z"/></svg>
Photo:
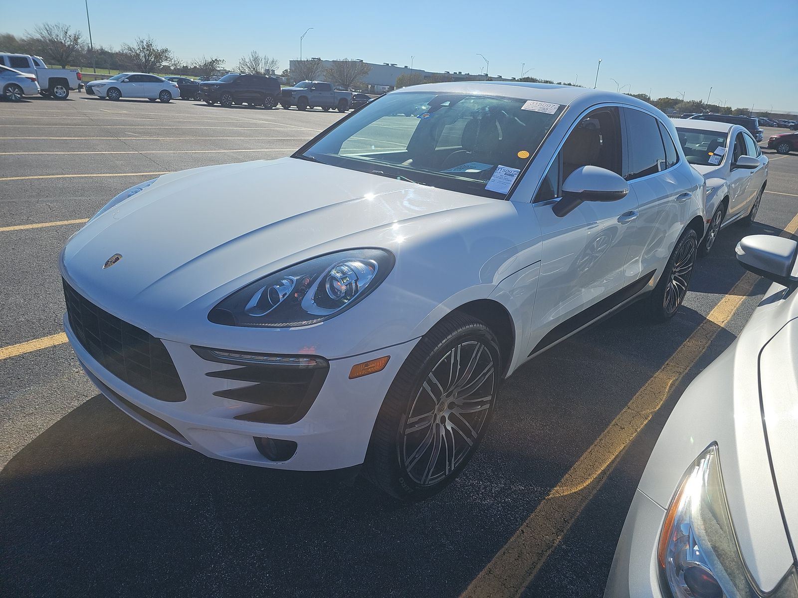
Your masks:
<svg viewBox="0 0 798 598"><path fill-rule="evenodd" d="M232 293L208 320L227 326L308 326L350 309L393 268L388 250L338 251L269 274Z"/></svg>

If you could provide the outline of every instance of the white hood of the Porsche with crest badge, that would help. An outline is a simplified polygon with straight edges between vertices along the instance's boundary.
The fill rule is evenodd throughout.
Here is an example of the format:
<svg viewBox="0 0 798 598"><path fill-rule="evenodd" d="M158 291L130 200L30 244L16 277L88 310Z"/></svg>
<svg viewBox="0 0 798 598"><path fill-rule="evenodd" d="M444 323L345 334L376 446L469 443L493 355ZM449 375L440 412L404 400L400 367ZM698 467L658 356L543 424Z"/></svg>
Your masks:
<svg viewBox="0 0 798 598"><path fill-rule="evenodd" d="M398 222L492 203L302 159L204 167L161 176L93 219L61 268L99 305L174 311L318 254L388 246Z"/></svg>

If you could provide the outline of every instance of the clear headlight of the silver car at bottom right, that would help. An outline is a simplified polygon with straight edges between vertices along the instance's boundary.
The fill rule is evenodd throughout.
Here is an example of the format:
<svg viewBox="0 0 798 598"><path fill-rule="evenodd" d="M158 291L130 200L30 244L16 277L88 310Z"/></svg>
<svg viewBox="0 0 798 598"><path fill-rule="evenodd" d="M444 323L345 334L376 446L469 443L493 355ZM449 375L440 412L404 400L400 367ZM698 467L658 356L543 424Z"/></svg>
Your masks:
<svg viewBox="0 0 798 598"><path fill-rule="evenodd" d="M717 445L685 474L666 513L658 561L663 593L674 598L765 596L740 555L726 502ZM768 598L795 598L793 569Z"/></svg>

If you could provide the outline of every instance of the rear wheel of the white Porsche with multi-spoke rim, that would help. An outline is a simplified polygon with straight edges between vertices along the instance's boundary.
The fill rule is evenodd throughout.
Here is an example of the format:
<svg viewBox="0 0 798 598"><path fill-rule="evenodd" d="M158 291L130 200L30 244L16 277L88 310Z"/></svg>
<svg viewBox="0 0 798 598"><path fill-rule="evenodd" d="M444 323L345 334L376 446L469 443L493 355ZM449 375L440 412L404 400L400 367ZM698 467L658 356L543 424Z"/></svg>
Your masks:
<svg viewBox="0 0 798 598"><path fill-rule="evenodd" d="M648 297L648 310L653 321L664 322L674 317L685 300L698 252L698 235L689 228L681 234L659 282Z"/></svg>

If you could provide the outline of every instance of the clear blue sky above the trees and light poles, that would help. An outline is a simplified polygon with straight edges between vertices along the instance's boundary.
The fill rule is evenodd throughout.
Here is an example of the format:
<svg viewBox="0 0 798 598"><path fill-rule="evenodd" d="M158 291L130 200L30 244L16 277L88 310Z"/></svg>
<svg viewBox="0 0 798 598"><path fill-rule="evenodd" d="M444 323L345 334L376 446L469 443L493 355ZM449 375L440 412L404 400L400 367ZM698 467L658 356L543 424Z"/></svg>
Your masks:
<svg viewBox="0 0 798 598"><path fill-rule="evenodd" d="M0 31L39 22L86 32L82 0L4 2ZM554 2L276 2L89 0L95 43L152 35L178 57L222 57L235 68L257 49L281 69L299 55L362 58L433 71L490 73L798 111L798 0L555 0ZM87 36L88 38L88 36Z"/></svg>

